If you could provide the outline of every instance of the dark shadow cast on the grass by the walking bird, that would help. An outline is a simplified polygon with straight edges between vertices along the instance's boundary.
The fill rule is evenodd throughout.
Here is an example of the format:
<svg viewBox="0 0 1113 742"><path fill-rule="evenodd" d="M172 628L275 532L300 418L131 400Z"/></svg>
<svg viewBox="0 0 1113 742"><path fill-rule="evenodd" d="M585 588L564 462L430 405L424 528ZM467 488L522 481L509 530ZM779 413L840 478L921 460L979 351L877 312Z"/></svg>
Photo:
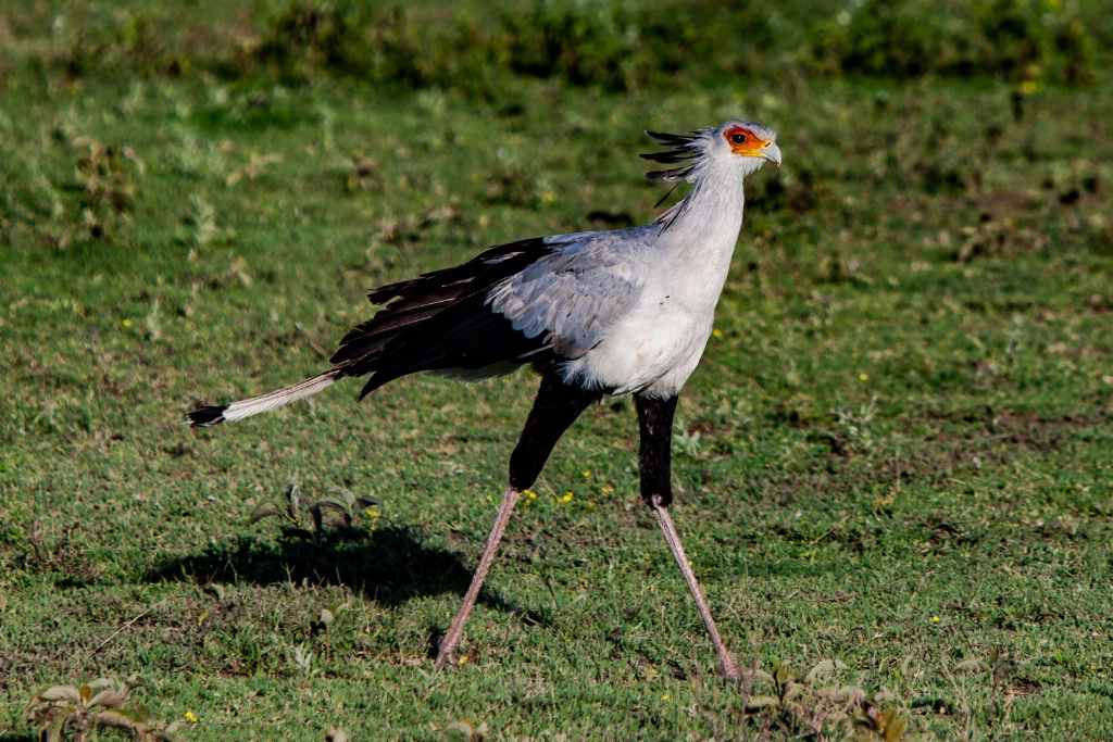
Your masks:
<svg viewBox="0 0 1113 742"><path fill-rule="evenodd" d="M188 582L197 585L277 583L341 585L387 606L414 597L463 595L472 573L460 554L430 546L408 527L385 526L365 538L243 537L208 544L196 553L161 560L146 582ZM535 612L504 600L484 587L479 602L548 625L545 611ZM436 641L436 630L433 630Z"/></svg>

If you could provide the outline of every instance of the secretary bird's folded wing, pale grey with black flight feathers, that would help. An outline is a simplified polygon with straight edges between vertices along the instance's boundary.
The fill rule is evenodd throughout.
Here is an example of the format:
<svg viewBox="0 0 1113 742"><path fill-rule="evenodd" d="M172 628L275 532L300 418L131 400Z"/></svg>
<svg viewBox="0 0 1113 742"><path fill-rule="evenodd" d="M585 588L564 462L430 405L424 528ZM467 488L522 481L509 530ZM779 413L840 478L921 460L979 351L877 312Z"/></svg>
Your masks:
<svg viewBox="0 0 1113 742"><path fill-rule="evenodd" d="M454 268L374 289L387 303L341 340L345 376L372 374L361 393L423 370L471 372L582 356L637 298L622 233L585 233L491 248ZM628 249L622 249L627 247Z"/></svg>

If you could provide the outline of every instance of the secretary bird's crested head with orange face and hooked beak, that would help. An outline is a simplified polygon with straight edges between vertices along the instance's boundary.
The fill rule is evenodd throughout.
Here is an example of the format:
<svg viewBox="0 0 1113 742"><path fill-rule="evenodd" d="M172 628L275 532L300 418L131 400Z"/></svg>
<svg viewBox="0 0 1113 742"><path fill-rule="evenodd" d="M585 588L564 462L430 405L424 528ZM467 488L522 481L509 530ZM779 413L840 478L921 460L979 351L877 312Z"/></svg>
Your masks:
<svg viewBox="0 0 1113 742"><path fill-rule="evenodd" d="M647 131L650 137L669 147L663 152L642 155L647 160L681 164L668 170L647 172L647 178L659 180L691 180L707 165L736 164L741 176L754 172L766 160L780 169L780 148L777 133L769 127L752 121L727 121L715 129L700 129L691 136Z"/></svg>

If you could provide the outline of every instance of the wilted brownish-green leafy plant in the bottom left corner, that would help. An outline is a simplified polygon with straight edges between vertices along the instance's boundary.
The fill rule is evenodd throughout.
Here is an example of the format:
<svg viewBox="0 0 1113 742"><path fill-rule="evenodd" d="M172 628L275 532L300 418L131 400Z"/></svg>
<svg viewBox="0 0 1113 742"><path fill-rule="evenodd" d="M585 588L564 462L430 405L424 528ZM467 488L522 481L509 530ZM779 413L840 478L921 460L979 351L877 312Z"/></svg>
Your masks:
<svg viewBox="0 0 1113 742"><path fill-rule="evenodd" d="M185 742L179 733L185 720L162 726L144 706L128 704L132 682L99 677L79 687L43 689L28 702L27 721L39 730L41 742L85 742L99 739L106 729L130 734L135 742Z"/></svg>

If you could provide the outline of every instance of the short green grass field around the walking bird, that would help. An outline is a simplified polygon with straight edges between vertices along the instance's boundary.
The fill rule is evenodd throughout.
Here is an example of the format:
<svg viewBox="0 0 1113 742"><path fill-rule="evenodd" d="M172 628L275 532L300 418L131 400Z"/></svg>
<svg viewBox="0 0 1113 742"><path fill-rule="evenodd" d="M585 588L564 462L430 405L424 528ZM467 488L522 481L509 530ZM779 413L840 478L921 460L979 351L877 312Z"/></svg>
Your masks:
<svg viewBox="0 0 1113 742"><path fill-rule="evenodd" d="M1035 69L894 78L809 30L812 6L762 17L792 44L769 60L642 60L602 87L582 55L529 67L524 27L479 9L422 6L380 47L336 31L339 61L267 52L296 14L263 2L0 10L0 740L38 739L43 686L104 675L141 677L131 702L191 742L463 719L491 740L881 739L853 725L870 703L905 739L1113 739L1109 21L1077 10L1089 68L1064 32ZM501 37L461 39L496 22L522 36L476 60ZM443 63L403 85L382 49ZM785 167L748 187L673 517L751 682L715 674L627 399L558 446L442 673L431 641L533 377L183 426L322 369L372 286L651 219L641 130L736 117L778 130ZM290 485L378 505L348 536L250 523Z"/></svg>

